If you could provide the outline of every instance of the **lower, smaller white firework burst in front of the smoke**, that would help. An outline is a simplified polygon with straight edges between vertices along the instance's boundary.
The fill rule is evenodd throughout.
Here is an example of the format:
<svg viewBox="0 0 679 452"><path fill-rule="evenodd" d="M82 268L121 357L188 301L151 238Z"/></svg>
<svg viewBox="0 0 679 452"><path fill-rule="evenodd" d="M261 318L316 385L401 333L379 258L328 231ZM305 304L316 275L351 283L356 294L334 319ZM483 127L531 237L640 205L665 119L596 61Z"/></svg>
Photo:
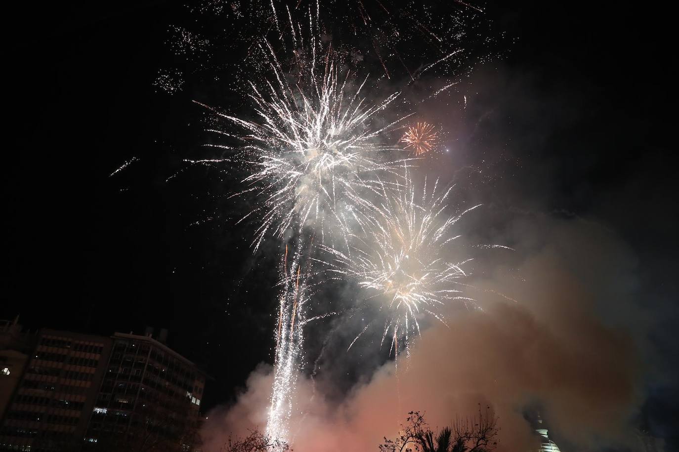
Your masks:
<svg viewBox="0 0 679 452"><path fill-rule="evenodd" d="M350 252L322 246L331 256L324 261L331 274L356 280L388 309L382 341L391 332L394 350L399 338L408 350L423 316L445 323L440 308L447 302L474 302L462 295L460 281L468 276L464 265L471 259L450 261L446 250L460 237L452 235L454 225L479 206L447 215L452 187L439 193L438 181L430 191L425 183L422 196L416 197L411 179L405 179L403 189L385 189L384 202L363 217L365 237L352 238Z"/></svg>

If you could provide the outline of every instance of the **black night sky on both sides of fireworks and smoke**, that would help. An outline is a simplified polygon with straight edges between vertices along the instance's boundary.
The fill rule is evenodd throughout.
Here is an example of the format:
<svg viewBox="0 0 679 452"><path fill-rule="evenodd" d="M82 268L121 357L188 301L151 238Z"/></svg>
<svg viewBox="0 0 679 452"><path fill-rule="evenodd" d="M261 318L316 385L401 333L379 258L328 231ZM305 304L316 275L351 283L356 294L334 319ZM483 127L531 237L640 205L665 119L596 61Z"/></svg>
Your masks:
<svg viewBox="0 0 679 452"><path fill-rule="evenodd" d="M676 337L665 333L677 318L669 12L498 3L488 14L518 39L475 75L483 107L465 120L485 132L462 139L481 149L465 158L496 162L511 193L500 204L593 217L619 233L639 259L645 303L663 313L650 334L663 375L677 375ZM163 1L5 11L0 317L106 335L168 328L170 345L215 377L209 407L271 360L276 257L253 257L249 231L227 221L229 181L194 168L166 182L204 137L190 100L205 92L152 86L168 24L183 14ZM648 391L667 436L676 386L649 379Z"/></svg>

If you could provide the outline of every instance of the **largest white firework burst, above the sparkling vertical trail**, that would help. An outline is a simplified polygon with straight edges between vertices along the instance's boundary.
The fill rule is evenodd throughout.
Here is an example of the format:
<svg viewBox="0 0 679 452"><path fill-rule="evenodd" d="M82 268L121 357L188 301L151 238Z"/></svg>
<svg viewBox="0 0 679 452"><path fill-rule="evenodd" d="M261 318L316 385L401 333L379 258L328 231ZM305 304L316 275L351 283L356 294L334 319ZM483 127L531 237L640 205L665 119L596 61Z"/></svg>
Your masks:
<svg viewBox="0 0 679 452"><path fill-rule="evenodd" d="M375 193L380 174L393 173L399 164L387 158L396 148L380 144L381 135L407 115L372 128L375 115L384 115L399 92L369 105L361 95L367 77L356 87L352 73L339 73L331 49L312 45L310 61L296 81L289 81L264 41L260 49L270 58L275 81L251 83L249 98L258 119L217 113L245 131L233 160L251 171L237 194L261 198L240 220L260 215L255 250L269 233L281 238L302 227L314 227L321 240L329 232L344 236L354 208L367 204L365 193ZM323 72L316 74L320 65Z"/></svg>

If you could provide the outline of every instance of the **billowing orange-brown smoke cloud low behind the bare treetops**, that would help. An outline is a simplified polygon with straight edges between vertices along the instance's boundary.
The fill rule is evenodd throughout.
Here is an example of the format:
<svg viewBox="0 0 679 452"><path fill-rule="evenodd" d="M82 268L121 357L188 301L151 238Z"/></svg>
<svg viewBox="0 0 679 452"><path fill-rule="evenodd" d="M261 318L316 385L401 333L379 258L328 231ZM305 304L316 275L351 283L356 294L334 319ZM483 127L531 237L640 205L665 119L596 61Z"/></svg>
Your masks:
<svg viewBox="0 0 679 452"><path fill-rule="evenodd" d="M448 325L423 331L411 356L399 357L398 371L393 362L382 365L339 401L325 396L332 381L300 377L295 451L375 451L408 411L441 427L473 416L479 404L499 417L501 451L536 450L529 407L539 407L562 450L634 449L629 426L641 398L636 356L643 344L620 321L642 319L630 312L634 257L596 223L521 218L498 234L517 249L511 263L471 281L482 310L451 306ZM270 367L261 366L236 404L208 414L205 451L219 451L230 432L265 427L271 383Z"/></svg>

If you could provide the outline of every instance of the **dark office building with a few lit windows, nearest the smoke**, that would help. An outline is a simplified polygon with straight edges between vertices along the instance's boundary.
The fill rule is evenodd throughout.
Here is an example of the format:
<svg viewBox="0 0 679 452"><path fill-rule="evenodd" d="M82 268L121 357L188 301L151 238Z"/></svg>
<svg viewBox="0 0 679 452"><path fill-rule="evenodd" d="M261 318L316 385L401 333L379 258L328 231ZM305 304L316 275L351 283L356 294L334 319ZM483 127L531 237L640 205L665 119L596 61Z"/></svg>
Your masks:
<svg viewBox="0 0 679 452"><path fill-rule="evenodd" d="M89 449L193 450L204 373L150 334L115 333L112 339L85 435Z"/></svg>

